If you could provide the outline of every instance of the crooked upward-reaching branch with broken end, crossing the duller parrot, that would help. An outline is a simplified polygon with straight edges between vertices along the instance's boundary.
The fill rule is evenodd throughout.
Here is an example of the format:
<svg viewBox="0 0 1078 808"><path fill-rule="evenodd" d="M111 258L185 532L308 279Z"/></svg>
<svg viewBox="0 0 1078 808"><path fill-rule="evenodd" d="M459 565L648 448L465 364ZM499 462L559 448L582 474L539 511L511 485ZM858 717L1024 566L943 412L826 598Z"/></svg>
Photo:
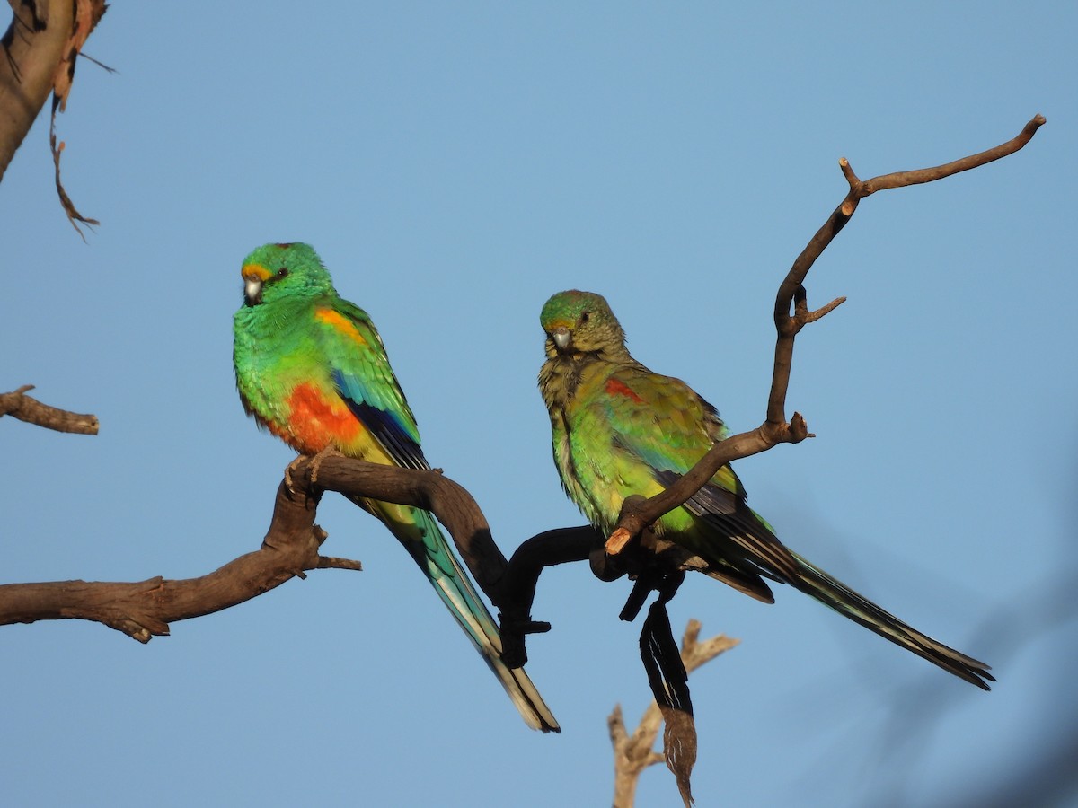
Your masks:
<svg viewBox="0 0 1078 808"><path fill-rule="evenodd" d="M853 217L860 199L876 191L941 180L959 171L968 171L971 168L1006 157L1028 143L1044 124L1044 115L1035 115L1017 137L994 149L942 166L914 171L898 171L874 177L871 180L858 180L849 167L848 161L843 157L839 165L849 184L849 191L845 199L834 209L827 222L798 255L793 266L790 267L786 278L779 284L775 297L777 338L775 340L775 364L772 372L771 392L768 396L766 419L755 430L742 432L716 444L688 474L661 493L642 501L626 499L622 505L618 526L610 534L610 542L624 544L624 542L639 535L646 526L668 511L683 504L727 463L766 451L780 443L799 443L813 436L808 432L804 418L799 413L794 413L789 421L786 420L786 393L793 363L793 339L801 329L834 310L845 301L845 297L831 301L815 311L810 310L807 293L803 284L816 259ZM791 306L792 314L790 314Z"/></svg>

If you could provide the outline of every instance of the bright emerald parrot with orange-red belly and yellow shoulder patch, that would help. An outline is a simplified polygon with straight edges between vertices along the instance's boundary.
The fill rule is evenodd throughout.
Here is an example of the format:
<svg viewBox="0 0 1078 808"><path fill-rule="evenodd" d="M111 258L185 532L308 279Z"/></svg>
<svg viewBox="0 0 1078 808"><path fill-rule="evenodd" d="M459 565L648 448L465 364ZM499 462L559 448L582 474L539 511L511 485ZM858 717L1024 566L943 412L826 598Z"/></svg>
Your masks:
<svg viewBox="0 0 1078 808"><path fill-rule="evenodd" d="M333 450L429 469L382 338L342 299L308 245L265 245L244 261L234 319L236 387L248 415L304 455ZM497 624L427 511L355 498L404 545L534 729L561 732L523 670L501 660Z"/></svg>

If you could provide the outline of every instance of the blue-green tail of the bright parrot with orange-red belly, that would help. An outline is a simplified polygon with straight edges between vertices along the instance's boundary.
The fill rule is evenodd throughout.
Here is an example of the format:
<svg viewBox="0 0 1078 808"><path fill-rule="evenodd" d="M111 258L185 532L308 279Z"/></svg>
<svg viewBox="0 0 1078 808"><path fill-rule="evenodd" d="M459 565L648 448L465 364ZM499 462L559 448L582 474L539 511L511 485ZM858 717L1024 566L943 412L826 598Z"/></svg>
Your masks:
<svg viewBox="0 0 1078 808"><path fill-rule="evenodd" d="M501 682L525 723L543 733L559 733L557 720L523 668L512 669L501 661L501 633L480 599L471 579L450 548L441 528L426 511L371 500L356 500L385 523L430 581Z"/></svg>

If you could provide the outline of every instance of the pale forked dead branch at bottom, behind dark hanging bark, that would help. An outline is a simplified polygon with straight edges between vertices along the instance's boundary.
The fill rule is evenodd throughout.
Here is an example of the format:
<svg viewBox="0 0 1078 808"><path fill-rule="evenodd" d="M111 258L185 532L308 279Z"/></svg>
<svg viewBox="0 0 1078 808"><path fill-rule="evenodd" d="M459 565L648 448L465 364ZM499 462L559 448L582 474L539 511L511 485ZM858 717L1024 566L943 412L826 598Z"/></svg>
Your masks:
<svg viewBox="0 0 1078 808"><path fill-rule="evenodd" d="M688 673L692 673L700 666L709 663L740 642L725 635L717 635L700 642L700 621L691 619L681 638L681 661ZM640 775L649 766L666 761L664 754L654 751L655 739L662 725L662 711L654 699L644 711L644 716L632 735L625 727L621 705L616 705L613 712L607 718L610 743L613 747L614 808L632 808Z"/></svg>

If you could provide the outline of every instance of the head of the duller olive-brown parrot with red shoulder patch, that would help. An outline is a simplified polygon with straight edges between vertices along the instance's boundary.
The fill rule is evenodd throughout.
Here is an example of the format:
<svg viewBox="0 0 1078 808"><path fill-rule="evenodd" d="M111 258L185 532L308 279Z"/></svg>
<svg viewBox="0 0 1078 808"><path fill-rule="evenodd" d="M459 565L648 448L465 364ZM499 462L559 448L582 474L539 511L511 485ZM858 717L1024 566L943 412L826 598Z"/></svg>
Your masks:
<svg viewBox="0 0 1078 808"><path fill-rule="evenodd" d="M603 295L558 292L542 307L539 322L547 332L547 356L598 353L625 349L625 332Z"/></svg>

